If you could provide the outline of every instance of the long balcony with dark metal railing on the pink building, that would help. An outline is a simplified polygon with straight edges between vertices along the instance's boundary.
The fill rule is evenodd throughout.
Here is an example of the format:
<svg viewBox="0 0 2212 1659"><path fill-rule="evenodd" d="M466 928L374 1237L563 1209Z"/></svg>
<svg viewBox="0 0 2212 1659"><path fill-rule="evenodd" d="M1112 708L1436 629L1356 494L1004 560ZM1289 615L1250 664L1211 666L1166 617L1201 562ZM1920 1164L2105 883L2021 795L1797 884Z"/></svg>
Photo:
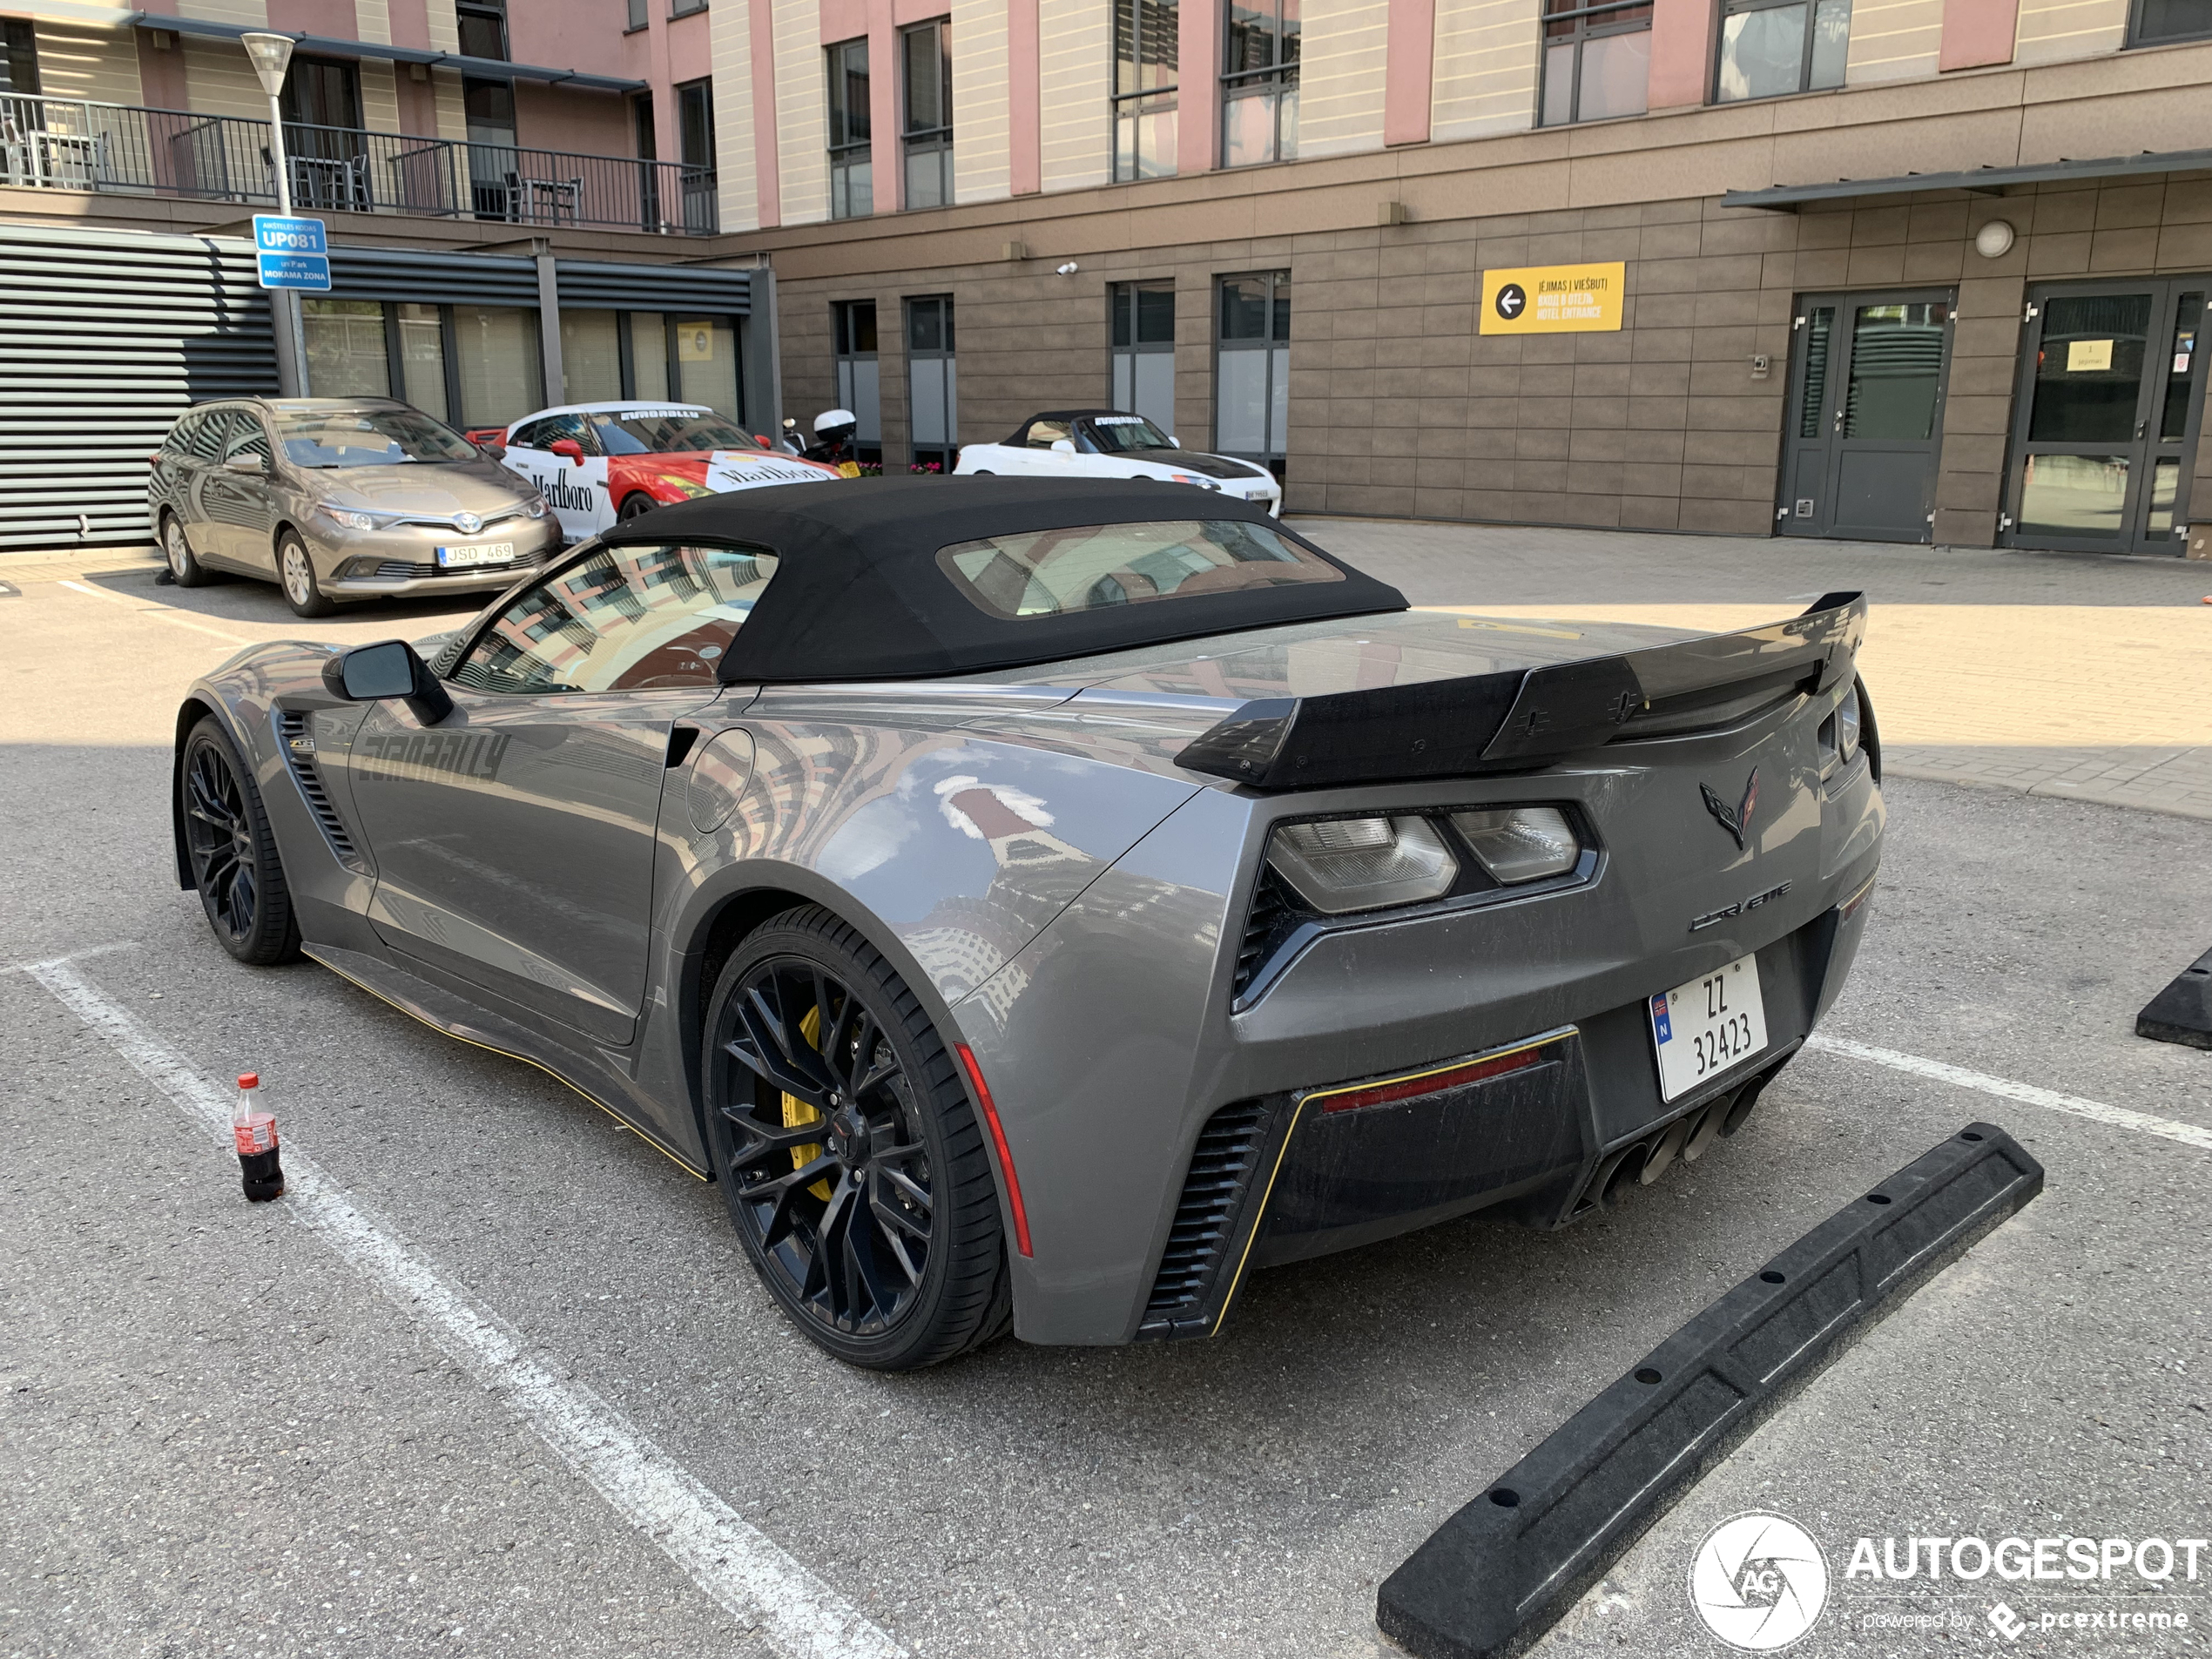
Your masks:
<svg viewBox="0 0 2212 1659"><path fill-rule="evenodd" d="M664 237L719 228L714 168L285 124L294 212L396 212ZM0 186L274 206L270 124L0 93Z"/></svg>

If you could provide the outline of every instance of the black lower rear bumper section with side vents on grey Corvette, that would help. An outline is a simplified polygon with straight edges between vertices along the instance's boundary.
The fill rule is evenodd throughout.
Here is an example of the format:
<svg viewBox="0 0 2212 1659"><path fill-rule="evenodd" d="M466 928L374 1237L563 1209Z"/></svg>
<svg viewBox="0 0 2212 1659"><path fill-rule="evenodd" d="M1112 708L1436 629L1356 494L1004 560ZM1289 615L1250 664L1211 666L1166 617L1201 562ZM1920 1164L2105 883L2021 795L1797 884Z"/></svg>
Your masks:
<svg viewBox="0 0 2212 1659"><path fill-rule="evenodd" d="M1672 1102L1639 1000L1469 1055L1471 1082L1411 1099L1329 1110L1347 1088L1332 1084L1223 1108L1214 1124L1250 1124L1248 1168L1223 1203L1230 1148L1217 1135L1212 1161L1192 1161L1137 1338L1212 1336L1256 1267L1491 1208L1557 1228L1608 1188L1659 1179L1743 1124L1834 995L1865 916L1829 909L1759 949L1767 1046Z"/></svg>

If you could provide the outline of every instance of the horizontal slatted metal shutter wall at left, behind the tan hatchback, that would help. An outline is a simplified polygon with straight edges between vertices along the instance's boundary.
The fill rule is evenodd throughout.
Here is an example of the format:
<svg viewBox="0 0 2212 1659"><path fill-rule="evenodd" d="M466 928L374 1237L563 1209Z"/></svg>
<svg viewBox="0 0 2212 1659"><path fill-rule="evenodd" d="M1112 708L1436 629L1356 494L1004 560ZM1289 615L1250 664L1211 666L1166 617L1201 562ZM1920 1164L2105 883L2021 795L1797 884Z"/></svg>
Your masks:
<svg viewBox="0 0 2212 1659"><path fill-rule="evenodd" d="M0 226L0 546L153 540L146 456L276 392L248 241Z"/></svg>

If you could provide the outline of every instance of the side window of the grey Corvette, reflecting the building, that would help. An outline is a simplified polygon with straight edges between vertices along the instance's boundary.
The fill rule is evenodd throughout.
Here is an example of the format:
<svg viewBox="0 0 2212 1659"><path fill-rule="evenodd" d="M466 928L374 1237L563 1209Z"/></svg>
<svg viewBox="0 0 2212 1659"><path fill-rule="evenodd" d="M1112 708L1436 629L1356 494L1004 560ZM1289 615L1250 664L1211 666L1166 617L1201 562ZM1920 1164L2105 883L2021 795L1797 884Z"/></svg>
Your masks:
<svg viewBox="0 0 2212 1659"><path fill-rule="evenodd" d="M776 573L750 546L606 546L533 584L453 679L511 697L712 686Z"/></svg>

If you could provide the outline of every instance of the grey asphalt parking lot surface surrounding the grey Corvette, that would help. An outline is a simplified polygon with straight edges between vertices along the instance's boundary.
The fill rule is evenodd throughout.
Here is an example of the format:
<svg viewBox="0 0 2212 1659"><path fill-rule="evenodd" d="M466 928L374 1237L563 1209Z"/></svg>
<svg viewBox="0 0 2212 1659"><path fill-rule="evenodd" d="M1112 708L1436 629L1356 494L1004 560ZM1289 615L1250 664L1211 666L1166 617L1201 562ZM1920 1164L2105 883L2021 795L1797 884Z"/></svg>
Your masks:
<svg viewBox="0 0 2212 1659"><path fill-rule="evenodd" d="M1394 573L1383 526L1354 535ZM1515 604L1646 597L1628 573L1648 549L1621 538L1613 580L1595 538L1546 557L1542 535ZM1798 546L1772 580L1690 568L1663 597L1781 615L1801 588L1907 568L1829 557L1874 577L1823 580ZM1475 599L1449 546L1418 560L1418 599ZM818 1652L1394 1652L1376 1584L1436 1524L1971 1119L2044 1161L2044 1197L1701 1482L1540 1652L1725 1652L1686 1573L1750 1509L1829 1559L1794 1652L2212 1648L2212 1553L2163 1584L1845 1577L1863 1535L2212 1537L2212 1055L2132 1035L2212 947L2212 821L1893 779L1874 925L1825 1026L2170 1133L1807 1051L1741 1135L1568 1232L1475 1219L1274 1270L1212 1343L1002 1343L874 1376L785 1327L712 1188L314 964L234 964L175 889L168 730L195 672L237 641L422 635L453 613L299 624L274 588L155 588L97 555L18 586L0 964L69 967L0 973L0 1655L805 1652L761 1597L708 1588L763 1562L770 1601L816 1586L847 1619ZM392 1259L239 1199L188 1106L195 1075L243 1068L316 1190L511 1340L540 1394L456 1358L451 1310L396 1294ZM533 1427L549 1398L659 1458L657 1491L726 1506L721 1553L664 1548L681 1528L619 1469L580 1475L575 1444ZM1989 1624L2000 1599L2028 1619L2015 1641ZM2115 1608L2190 1628L2037 1628Z"/></svg>

